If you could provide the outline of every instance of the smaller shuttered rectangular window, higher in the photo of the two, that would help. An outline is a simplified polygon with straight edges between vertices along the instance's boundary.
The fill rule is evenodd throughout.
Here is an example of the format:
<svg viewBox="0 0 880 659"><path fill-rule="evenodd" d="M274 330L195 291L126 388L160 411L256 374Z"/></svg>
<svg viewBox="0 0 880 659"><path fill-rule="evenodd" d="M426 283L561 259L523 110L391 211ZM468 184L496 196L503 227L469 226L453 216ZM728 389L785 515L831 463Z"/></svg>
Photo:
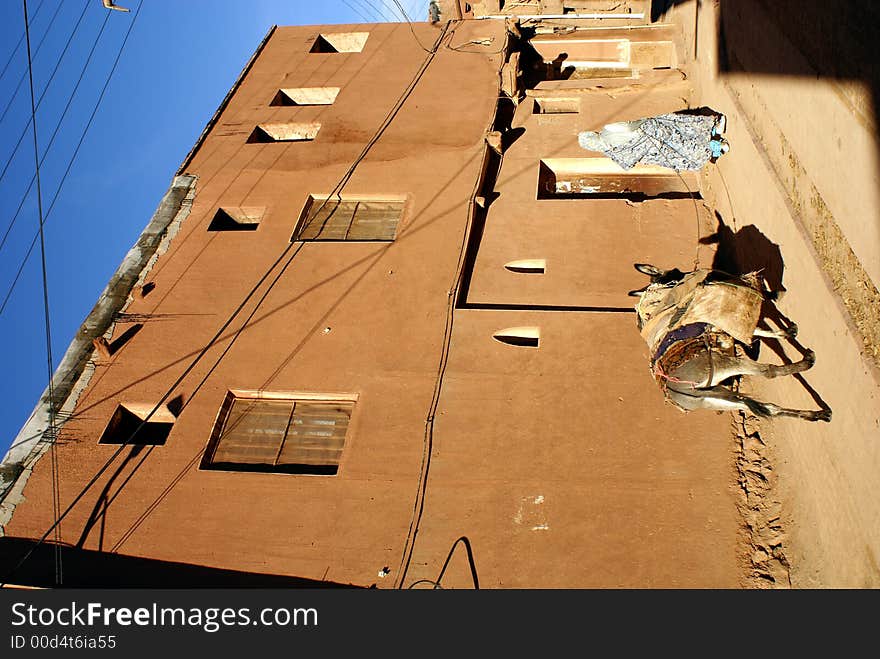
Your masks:
<svg viewBox="0 0 880 659"><path fill-rule="evenodd" d="M403 199L352 199L311 195L292 240L394 240Z"/></svg>

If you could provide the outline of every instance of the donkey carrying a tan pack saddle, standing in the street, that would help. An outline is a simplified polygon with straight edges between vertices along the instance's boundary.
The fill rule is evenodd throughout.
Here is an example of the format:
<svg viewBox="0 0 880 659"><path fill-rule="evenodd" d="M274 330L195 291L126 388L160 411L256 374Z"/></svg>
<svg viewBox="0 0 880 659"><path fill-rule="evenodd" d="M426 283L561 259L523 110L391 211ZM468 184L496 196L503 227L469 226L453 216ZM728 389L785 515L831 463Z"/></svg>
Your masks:
<svg viewBox="0 0 880 659"><path fill-rule="evenodd" d="M651 283L630 291L639 298L638 327L651 350L651 372L667 400L688 412L696 409L747 410L757 416L789 416L831 421L831 410L795 410L765 403L725 386L739 375L775 378L801 373L816 361L808 350L793 364L761 364L745 353L756 338L794 338L793 323L779 331L760 330L765 297L757 273L741 277L718 270L661 270L636 263Z"/></svg>

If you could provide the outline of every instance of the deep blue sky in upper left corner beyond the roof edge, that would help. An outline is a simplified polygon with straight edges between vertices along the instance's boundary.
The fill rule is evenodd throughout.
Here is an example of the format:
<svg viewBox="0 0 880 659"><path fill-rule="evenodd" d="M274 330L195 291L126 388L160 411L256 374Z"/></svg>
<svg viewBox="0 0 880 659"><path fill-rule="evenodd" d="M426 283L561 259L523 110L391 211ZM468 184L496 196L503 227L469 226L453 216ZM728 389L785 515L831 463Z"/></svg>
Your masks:
<svg viewBox="0 0 880 659"><path fill-rule="evenodd" d="M425 19L427 0L398 1L414 20ZM101 0L28 0L35 96L42 97L37 130L53 366L273 24L401 20L393 0L117 4L131 11L108 11ZM39 227L36 187L25 194L35 169L24 40L16 47L23 35L22 2L0 0L0 338L9 366L0 385L0 456L48 383L39 242L11 288Z"/></svg>

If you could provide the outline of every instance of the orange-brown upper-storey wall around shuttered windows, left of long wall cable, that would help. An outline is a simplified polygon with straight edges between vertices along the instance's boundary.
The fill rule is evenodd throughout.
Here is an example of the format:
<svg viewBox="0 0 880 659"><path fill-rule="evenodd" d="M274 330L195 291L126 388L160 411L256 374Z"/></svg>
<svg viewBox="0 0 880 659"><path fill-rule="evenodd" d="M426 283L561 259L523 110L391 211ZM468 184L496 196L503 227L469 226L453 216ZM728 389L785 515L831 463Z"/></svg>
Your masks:
<svg viewBox="0 0 880 659"><path fill-rule="evenodd" d="M394 242L297 248L291 235L308 196L333 191L426 62L419 42L430 48L440 28L413 29L415 38L406 24L272 34L188 164L197 177L191 212L149 271L152 290L135 290L126 309L142 327L111 358L93 355L95 373L57 447L62 506L119 448L98 443L119 403L151 405L168 393L184 408L164 445L123 449L61 525L64 543L343 584L370 585L398 565L447 291L495 113L503 24L447 34L349 177L346 195L406 199ZM320 33L361 31L362 52L310 52ZM333 105L270 105L280 88L324 86L340 88ZM248 143L268 121L321 129L311 142ZM221 206L266 212L256 231L208 231ZM111 341L132 326L117 322ZM200 470L229 389L357 394L339 475ZM39 538L50 527L51 481L42 459L7 536Z"/></svg>

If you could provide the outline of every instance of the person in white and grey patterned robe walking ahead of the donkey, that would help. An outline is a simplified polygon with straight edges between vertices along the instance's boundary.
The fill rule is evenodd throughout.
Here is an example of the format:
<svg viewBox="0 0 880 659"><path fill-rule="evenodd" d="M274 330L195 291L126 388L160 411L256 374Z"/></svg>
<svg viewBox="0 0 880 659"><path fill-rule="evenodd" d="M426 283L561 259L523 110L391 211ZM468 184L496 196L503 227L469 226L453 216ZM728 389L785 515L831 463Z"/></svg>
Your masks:
<svg viewBox="0 0 880 659"><path fill-rule="evenodd" d="M725 153L723 131L723 115L675 112L582 132L578 144L604 153L624 169L643 163L683 171L700 169Z"/></svg>

